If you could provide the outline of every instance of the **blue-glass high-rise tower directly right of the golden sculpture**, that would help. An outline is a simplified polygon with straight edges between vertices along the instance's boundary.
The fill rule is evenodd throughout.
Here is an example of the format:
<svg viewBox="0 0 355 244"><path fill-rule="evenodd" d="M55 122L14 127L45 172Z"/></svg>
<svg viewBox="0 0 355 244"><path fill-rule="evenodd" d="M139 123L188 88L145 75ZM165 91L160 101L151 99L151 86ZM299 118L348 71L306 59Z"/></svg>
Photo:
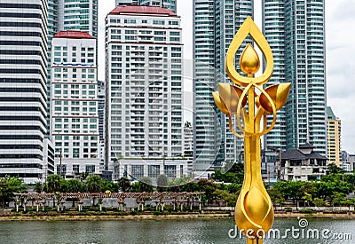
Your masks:
<svg viewBox="0 0 355 244"><path fill-rule="evenodd" d="M263 0L263 31L274 57L271 82L292 83L264 146L310 143L327 155L327 85L324 0Z"/></svg>

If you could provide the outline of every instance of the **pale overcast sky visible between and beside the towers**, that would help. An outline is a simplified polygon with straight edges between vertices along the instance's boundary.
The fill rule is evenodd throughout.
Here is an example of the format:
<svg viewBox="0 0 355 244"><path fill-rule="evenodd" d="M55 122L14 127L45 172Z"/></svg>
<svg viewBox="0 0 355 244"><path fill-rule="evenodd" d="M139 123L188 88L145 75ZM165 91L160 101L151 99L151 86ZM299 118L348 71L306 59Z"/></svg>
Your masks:
<svg viewBox="0 0 355 244"><path fill-rule="evenodd" d="M327 106L342 120L343 150L355 153L355 0L326 1ZM114 9L114 0L99 0L99 79L105 74L105 18ZM261 28L261 0L255 0L256 23ZM192 59L193 1L177 0L177 14L182 18L185 59ZM191 74L186 72L185 74ZM185 92L192 91L192 81L185 77ZM190 104L191 101L185 101ZM186 110L191 105L185 105ZM190 117L187 115L187 117Z"/></svg>

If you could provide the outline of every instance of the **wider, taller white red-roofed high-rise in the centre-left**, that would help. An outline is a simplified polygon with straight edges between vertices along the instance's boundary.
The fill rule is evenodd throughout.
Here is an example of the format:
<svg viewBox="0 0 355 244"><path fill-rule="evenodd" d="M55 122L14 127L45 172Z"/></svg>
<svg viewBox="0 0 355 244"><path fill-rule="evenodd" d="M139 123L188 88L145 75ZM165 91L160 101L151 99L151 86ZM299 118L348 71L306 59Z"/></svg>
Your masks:
<svg viewBox="0 0 355 244"><path fill-rule="evenodd" d="M127 164L140 159L142 165L127 169L146 169L132 172L146 176L143 164L166 163L163 171L170 172L170 159L182 156L182 53L180 17L175 12L117 6L107 15L105 151L114 179L123 170L122 165L114 167L117 159ZM185 174L186 169L180 172ZM170 174L174 175L178 174Z"/></svg>

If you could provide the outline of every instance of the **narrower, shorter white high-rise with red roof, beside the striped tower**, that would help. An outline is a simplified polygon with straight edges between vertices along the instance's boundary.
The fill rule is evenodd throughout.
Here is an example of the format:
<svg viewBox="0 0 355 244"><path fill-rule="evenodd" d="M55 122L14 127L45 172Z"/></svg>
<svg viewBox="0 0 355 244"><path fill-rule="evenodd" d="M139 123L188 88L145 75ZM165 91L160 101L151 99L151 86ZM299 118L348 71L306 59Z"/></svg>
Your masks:
<svg viewBox="0 0 355 244"><path fill-rule="evenodd" d="M56 173L65 177L100 173L96 53L87 32L60 31L52 39L51 139Z"/></svg>

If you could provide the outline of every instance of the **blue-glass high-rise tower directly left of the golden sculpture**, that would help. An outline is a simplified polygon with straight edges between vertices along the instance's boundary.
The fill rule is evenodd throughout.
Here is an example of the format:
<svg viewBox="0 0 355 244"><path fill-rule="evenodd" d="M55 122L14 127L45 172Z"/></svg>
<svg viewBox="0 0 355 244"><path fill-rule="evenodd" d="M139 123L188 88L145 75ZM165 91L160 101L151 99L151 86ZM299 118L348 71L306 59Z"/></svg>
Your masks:
<svg viewBox="0 0 355 244"><path fill-rule="evenodd" d="M219 168L224 161L241 161L242 141L230 132L228 119L217 110L212 91L217 91L217 83L230 82L225 74L226 51L244 20L253 16L253 3L253 0L193 1L195 172ZM240 55L239 51L236 59Z"/></svg>

